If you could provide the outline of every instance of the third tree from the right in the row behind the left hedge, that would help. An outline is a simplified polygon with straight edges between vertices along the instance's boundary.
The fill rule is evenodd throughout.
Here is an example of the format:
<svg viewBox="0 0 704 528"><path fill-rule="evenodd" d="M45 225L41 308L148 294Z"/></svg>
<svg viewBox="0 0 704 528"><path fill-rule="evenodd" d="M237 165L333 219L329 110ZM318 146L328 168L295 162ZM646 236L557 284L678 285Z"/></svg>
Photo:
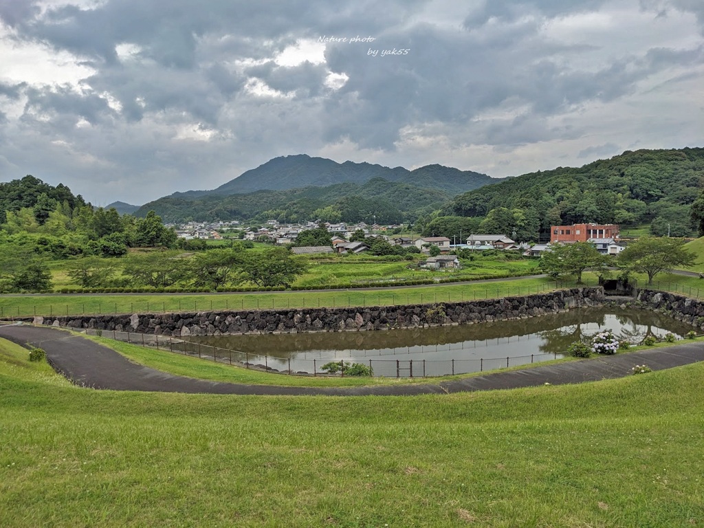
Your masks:
<svg viewBox="0 0 704 528"><path fill-rule="evenodd" d="M127 257L122 275L133 284L165 288L187 277L187 261L178 251L149 251Z"/></svg>

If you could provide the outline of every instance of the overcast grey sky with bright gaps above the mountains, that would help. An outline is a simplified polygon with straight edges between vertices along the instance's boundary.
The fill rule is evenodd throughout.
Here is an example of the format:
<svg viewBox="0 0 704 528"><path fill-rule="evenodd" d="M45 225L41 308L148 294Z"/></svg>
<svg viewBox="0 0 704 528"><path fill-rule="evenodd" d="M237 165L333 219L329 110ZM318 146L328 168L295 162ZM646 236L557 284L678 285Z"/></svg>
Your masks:
<svg viewBox="0 0 704 528"><path fill-rule="evenodd" d="M491 176L704 146L702 0L0 0L0 181L97 205L307 153Z"/></svg>

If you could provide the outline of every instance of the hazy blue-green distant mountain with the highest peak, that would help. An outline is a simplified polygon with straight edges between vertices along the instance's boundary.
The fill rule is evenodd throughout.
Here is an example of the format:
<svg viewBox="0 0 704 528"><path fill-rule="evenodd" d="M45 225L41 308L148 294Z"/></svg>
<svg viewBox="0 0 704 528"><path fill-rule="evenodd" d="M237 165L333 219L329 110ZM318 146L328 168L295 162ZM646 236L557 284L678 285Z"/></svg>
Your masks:
<svg viewBox="0 0 704 528"><path fill-rule="evenodd" d="M305 154L282 156L244 172L234 180L220 185L212 191L188 191L172 196L192 199L207 194L229 196L260 190L285 190L302 187L327 187L342 182L363 184L372 178L384 178L389 182L401 182L417 187L432 187L450 194L477 189L494 182L493 178L472 172L427 165L415 170L403 167L388 168L371 163L337 163L326 158L311 158Z"/></svg>

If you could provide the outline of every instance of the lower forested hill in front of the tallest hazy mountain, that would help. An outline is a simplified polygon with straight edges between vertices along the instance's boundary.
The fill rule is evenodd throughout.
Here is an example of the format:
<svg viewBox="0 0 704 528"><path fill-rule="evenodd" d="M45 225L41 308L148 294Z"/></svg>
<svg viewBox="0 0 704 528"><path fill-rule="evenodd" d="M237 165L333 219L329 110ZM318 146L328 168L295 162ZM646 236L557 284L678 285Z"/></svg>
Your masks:
<svg viewBox="0 0 704 528"><path fill-rule="evenodd" d="M434 189L374 178L364 184L339 183L281 191L256 191L230 196L206 195L196 199L165 196L146 203L135 215L154 210L165 222L184 220L287 220L319 218L328 222L398 223L427 215L452 198Z"/></svg>

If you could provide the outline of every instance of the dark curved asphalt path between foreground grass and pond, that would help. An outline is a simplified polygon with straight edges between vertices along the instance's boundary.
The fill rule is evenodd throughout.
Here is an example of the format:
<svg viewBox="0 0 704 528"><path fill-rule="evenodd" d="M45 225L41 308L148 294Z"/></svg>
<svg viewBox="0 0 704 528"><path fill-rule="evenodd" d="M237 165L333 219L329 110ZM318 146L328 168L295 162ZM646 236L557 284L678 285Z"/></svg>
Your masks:
<svg viewBox="0 0 704 528"><path fill-rule="evenodd" d="M161 372L137 365L111 348L65 330L30 325L0 326L0 337L23 346L39 346L49 363L73 383L94 389L118 391L160 391L206 394L267 394L327 396L411 396L453 392L516 389L518 387L595 382L631 374L634 365L662 370L704 360L704 343L687 343L604 356L591 360L544 365L541 367L495 372L436 384L406 384L367 387L302 387L244 385L210 382Z"/></svg>

